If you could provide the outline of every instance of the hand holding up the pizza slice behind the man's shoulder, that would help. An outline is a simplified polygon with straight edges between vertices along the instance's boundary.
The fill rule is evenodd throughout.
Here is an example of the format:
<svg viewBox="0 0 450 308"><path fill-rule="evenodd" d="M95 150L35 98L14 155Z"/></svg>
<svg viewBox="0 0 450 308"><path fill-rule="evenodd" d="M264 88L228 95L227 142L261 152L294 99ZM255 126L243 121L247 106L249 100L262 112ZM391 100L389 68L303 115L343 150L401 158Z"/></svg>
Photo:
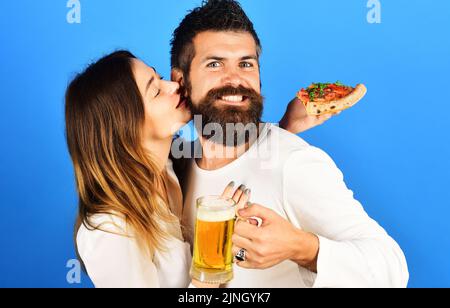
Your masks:
<svg viewBox="0 0 450 308"><path fill-rule="evenodd" d="M341 112L337 112L340 114ZM315 126L322 125L333 117L332 114L321 116L310 116L306 108L298 98L294 98L288 105L286 113L280 121L280 127L293 133L299 134Z"/></svg>

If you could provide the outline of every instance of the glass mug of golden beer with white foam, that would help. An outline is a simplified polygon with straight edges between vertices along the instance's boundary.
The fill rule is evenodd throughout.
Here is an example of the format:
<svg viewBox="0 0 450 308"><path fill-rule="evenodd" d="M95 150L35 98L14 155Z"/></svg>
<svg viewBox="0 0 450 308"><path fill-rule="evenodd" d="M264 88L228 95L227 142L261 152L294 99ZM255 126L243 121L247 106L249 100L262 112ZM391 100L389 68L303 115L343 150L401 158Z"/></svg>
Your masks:
<svg viewBox="0 0 450 308"><path fill-rule="evenodd" d="M233 279L233 243L236 203L219 196L197 200L194 256L191 277L223 284Z"/></svg>

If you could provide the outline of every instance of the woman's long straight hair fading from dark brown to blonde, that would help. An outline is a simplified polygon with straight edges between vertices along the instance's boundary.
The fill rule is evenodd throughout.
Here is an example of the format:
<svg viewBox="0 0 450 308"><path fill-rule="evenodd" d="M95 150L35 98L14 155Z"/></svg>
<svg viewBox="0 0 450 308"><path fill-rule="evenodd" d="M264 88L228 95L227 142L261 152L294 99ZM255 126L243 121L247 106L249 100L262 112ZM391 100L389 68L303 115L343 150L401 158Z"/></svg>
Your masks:
<svg viewBox="0 0 450 308"><path fill-rule="evenodd" d="M90 218L118 215L141 249L153 255L169 238L173 223L163 172L142 147L143 99L128 51L118 51L75 77L66 93L66 138L79 196L81 224L100 229Z"/></svg>

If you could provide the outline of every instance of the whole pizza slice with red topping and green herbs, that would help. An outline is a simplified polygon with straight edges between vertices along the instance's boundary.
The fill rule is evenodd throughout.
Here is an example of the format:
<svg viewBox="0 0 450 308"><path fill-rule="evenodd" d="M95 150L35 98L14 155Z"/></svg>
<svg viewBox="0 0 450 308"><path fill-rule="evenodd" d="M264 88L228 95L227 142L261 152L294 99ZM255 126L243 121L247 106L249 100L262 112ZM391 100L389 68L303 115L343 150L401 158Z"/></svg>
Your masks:
<svg viewBox="0 0 450 308"><path fill-rule="evenodd" d="M367 93L363 84L355 88L336 83L313 83L307 89L301 89L297 98L305 105L309 115L336 113L352 107Z"/></svg>

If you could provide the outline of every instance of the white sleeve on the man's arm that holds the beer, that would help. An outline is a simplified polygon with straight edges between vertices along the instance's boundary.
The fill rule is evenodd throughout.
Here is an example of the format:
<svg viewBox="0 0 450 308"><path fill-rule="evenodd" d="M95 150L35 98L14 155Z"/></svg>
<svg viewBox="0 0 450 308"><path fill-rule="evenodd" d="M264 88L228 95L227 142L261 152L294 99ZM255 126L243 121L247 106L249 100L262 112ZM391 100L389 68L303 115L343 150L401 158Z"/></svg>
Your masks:
<svg viewBox="0 0 450 308"><path fill-rule="evenodd" d="M319 238L316 287L406 287L398 244L364 211L320 149L293 153L284 168L289 217Z"/></svg>

